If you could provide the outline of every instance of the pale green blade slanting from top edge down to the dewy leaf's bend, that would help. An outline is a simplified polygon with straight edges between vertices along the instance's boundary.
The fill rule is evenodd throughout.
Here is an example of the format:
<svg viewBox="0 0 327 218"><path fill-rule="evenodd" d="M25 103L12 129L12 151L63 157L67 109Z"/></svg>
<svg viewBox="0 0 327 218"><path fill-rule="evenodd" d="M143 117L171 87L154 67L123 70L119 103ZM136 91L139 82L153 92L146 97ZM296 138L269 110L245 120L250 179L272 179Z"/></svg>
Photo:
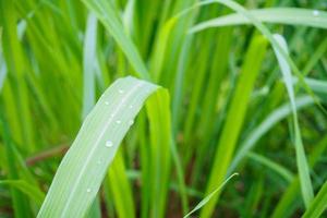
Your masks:
<svg viewBox="0 0 327 218"><path fill-rule="evenodd" d="M93 11L99 21L106 26L114 40L124 51L126 58L133 65L136 74L144 80L149 80L149 73L132 39L125 34L124 27L112 2L106 0L82 0Z"/></svg>

